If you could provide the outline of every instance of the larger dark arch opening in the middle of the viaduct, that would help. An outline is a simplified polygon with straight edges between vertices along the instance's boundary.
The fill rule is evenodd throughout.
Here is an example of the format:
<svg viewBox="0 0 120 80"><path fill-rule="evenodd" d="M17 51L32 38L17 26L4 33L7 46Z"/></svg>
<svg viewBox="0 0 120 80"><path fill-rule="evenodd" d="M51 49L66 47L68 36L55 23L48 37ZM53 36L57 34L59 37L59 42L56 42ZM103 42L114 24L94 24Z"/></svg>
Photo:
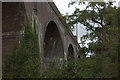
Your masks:
<svg viewBox="0 0 120 80"><path fill-rule="evenodd" d="M47 25L44 36L44 58L62 57L64 48L58 27L54 21Z"/></svg>

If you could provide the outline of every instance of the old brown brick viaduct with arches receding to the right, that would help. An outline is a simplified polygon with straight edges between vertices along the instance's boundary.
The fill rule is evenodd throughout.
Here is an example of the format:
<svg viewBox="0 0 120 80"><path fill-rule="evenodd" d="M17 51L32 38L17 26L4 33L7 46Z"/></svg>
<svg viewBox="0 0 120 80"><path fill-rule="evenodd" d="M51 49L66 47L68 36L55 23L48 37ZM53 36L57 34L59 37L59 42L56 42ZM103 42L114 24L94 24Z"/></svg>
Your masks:
<svg viewBox="0 0 120 80"><path fill-rule="evenodd" d="M67 60L71 54L77 58L79 44L68 30L61 13L53 2L4 2L2 3L2 58L12 53L19 44L28 16L36 16L36 30L39 35L42 62L45 59Z"/></svg>

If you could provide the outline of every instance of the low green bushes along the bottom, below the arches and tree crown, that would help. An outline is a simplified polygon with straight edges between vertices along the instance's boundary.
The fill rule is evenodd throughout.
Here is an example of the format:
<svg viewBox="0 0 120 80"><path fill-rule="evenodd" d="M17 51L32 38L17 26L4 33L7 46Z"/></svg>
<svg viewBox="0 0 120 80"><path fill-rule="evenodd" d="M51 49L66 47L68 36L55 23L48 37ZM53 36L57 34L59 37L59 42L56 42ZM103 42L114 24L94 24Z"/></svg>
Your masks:
<svg viewBox="0 0 120 80"><path fill-rule="evenodd" d="M53 62L42 73L43 78L117 78L118 62L112 62L108 54L90 58L71 59L58 66Z"/></svg>

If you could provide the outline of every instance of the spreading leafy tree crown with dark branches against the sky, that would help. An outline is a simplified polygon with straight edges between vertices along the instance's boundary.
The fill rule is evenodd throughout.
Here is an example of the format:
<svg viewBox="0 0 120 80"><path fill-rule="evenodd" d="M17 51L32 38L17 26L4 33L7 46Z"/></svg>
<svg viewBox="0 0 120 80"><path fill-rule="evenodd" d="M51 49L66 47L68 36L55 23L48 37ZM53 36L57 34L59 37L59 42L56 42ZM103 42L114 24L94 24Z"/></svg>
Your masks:
<svg viewBox="0 0 120 80"><path fill-rule="evenodd" d="M85 10L76 8L67 20L69 26L80 23L86 27L88 33L81 38L81 43L92 41L88 44L91 52L103 53L108 50L110 36L118 37L117 8L113 7L112 2L88 2Z"/></svg>

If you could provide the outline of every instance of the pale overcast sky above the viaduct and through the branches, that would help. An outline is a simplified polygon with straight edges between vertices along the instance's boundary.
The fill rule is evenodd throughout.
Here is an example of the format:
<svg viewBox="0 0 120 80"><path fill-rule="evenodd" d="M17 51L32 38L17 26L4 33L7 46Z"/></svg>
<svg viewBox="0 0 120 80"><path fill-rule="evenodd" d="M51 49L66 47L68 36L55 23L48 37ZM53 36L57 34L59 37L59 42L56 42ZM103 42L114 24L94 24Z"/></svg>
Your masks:
<svg viewBox="0 0 120 80"><path fill-rule="evenodd" d="M54 3L56 4L57 8L61 12L61 14L65 15L66 13L72 14L73 11L75 10L75 7L80 8L80 10L85 9L85 6L80 6L80 5L72 5L71 7L68 8L68 4L71 0L53 0ZM116 2L114 5L118 6L118 2L120 0L115 0ZM84 34L86 34L87 31L85 30L85 27L80 26L78 28L78 42L80 42L80 37L82 37ZM73 34L76 35L76 31L73 31Z"/></svg>

